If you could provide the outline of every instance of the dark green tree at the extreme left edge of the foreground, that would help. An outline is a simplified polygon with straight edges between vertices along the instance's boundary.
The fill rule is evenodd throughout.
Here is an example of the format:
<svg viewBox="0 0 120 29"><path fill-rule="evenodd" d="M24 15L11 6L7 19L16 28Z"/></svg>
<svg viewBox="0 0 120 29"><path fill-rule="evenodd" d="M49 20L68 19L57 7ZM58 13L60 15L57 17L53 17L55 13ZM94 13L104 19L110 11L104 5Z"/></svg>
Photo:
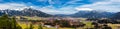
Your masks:
<svg viewBox="0 0 120 29"><path fill-rule="evenodd" d="M3 15L0 17L0 29L12 29L8 15Z"/></svg>

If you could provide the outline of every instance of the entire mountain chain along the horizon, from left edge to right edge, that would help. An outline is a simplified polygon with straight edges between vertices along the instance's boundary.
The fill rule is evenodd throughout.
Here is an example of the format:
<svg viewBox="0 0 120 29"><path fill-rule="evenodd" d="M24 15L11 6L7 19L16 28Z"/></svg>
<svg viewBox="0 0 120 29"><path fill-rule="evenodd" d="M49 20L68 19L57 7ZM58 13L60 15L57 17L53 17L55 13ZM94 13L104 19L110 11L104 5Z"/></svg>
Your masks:
<svg viewBox="0 0 120 29"><path fill-rule="evenodd" d="M10 16L38 16L38 17L82 17L82 18L119 18L120 13L111 13L111 12L104 12L104 11L79 11L75 14L65 15L65 14L56 14L51 15L44 13L42 11L33 9L33 8L25 8L21 11L18 10L0 10L0 15L8 14Z"/></svg>

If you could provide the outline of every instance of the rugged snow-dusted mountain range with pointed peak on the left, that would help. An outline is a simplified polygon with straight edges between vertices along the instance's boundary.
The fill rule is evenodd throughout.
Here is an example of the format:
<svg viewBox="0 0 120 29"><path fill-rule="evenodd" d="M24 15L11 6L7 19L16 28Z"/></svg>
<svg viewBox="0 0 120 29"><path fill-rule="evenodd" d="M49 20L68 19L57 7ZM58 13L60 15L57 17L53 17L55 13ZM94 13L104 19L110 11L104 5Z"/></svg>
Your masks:
<svg viewBox="0 0 120 29"><path fill-rule="evenodd" d="M8 14L10 16L38 16L38 17L50 17L52 15L50 14L46 14L44 12L41 12L39 10L35 10L32 8L25 8L21 11L17 11L17 10L0 10L0 15L3 14Z"/></svg>

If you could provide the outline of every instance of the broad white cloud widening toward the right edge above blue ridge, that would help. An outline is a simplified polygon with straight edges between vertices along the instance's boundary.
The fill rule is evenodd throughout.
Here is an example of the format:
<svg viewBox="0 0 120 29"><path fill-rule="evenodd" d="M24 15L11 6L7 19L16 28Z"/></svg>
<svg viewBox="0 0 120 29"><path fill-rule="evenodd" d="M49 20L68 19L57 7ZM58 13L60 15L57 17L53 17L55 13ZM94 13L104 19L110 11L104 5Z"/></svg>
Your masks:
<svg viewBox="0 0 120 29"><path fill-rule="evenodd" d="M82 5L76 8L91 8L108 12L120 12L120 0L101 1L93 4Z"/></svg>

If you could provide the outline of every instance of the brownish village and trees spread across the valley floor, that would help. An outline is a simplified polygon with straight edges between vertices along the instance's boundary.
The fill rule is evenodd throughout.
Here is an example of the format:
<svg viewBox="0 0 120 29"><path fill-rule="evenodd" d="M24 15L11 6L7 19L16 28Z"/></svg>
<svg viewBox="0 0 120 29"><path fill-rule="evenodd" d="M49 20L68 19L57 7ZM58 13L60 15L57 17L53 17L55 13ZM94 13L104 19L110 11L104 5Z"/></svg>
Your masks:
<svg viewBox="0 0 120 29"><path fill-rule="evenodd" d="M114 24L110 21L106 20L107 18L102 18L101 20L97 21L96 19L87 19L87 18L60 18L60 17L48 17L48 18L40 18L40 19L33 19L29 20L26 17L19 17L18 22L20 24L25 23L27 26L29 24L33 25L40 25L47 28L75 28L75 29L93 29L99 28L102 29L104 27L108 27L110 29L118 29L119 24ZM110 24L109 24L110 23ZM112 26L114 25L114 26ZM35 26L36 27L36 26Z"/></svg>

